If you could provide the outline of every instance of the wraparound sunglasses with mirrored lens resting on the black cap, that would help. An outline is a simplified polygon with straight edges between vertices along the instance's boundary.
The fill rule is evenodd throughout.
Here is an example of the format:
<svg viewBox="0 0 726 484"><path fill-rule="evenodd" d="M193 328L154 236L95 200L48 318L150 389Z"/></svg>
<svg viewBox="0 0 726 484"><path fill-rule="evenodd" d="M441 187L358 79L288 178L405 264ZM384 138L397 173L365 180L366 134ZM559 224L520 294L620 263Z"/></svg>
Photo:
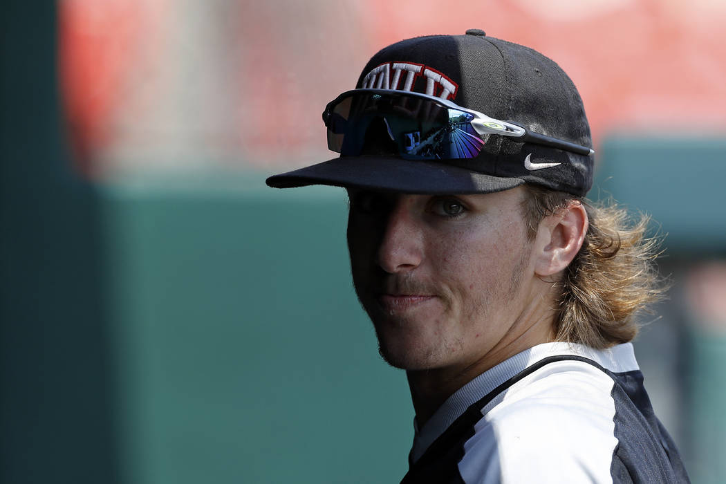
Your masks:
<svg viewBox="0 0 726 484"><path fill-rule="evenodd" d="M476 157L489 135L591 155L588 147L490 118L448 99L393 89L354 89L333 99L322 119L327 147L343 156L397 155L405 160Z"/></svg>

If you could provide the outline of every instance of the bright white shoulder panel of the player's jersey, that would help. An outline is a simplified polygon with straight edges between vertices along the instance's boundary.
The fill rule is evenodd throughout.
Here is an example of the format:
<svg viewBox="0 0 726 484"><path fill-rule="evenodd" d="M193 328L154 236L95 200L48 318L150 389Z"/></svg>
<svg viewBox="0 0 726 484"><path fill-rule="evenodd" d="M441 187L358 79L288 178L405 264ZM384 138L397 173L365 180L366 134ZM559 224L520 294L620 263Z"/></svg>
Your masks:
<svg viewBox="0 0 726 484"><path fill-rule="evenodd" d="M465 482L492 466L511 482L608 482L618 444L614 384L584 361L554 361L528 374L482 409L460 462Z"/></svg>

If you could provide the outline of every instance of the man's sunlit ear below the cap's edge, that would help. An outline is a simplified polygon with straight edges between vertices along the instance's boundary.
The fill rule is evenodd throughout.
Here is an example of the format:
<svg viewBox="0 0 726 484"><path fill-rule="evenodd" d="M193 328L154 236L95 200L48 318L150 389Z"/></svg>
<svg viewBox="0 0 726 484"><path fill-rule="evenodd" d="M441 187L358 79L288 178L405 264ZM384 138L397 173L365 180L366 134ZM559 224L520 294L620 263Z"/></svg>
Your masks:
<svg viewBox="0 0 726 484"><path fill-rule="evenodd" d="M566 268L575 258L587 233L587 212L579 200L544 217L535 239L534 273L552 276Z"/></svg>

